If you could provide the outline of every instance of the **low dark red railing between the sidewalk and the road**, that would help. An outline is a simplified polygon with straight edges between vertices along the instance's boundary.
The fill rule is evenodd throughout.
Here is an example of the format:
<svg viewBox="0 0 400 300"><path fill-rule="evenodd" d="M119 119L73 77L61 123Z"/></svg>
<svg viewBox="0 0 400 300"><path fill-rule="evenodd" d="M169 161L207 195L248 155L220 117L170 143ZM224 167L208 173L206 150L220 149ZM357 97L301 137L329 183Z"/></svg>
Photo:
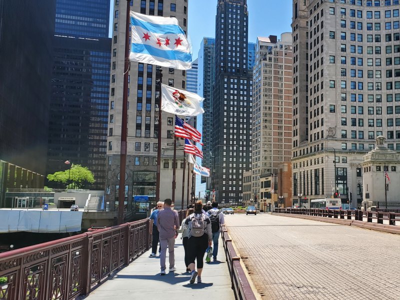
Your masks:
<svg viewBox="0 0 400 300"><path fill-rule="evenodd" d="M229 237L225 225L222 225L220 230L235 298L239 300L255 300L255 295L240 264L240 257L236 254L232 239Z"/></svg>

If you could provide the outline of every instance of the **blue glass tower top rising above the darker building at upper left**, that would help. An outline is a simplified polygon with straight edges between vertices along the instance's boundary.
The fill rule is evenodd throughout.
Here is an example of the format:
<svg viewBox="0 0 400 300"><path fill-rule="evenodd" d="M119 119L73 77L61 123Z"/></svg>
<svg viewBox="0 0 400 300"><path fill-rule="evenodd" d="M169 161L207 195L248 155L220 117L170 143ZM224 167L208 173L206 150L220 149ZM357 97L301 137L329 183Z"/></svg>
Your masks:
<svg viewBox="0 0 400 300"><path fill-rule="evenodd" d="M108 37L109 0L57 0L55 32Z"/></svg>

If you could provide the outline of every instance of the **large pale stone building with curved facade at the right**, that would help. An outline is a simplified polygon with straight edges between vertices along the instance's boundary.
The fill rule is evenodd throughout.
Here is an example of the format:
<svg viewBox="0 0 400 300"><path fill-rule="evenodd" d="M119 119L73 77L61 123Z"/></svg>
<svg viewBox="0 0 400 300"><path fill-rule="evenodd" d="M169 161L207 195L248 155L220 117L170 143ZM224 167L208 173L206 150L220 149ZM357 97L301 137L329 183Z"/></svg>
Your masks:
<svg viewBox="0 0 400 300"><path fill-rule="evenodd" d="M359 163L376 136L400 150L399 9L398 0L293 0L293 201L338 191L357 207L367 188Z"/></svg>

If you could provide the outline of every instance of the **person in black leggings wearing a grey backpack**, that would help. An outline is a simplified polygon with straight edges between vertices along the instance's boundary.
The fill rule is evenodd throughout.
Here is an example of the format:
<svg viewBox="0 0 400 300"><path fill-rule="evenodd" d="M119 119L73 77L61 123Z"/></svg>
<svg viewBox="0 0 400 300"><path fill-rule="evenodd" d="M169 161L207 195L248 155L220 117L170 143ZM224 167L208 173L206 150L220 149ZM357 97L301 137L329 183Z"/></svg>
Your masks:
<svg viewBox="0 0 400 300"><path fill-rule="evenodd" d="M204 251L207 245L210 246L212 243L211 222L209 217L202 212L201 200L194 203L194 212L186 217L184 227L189 228L187 253L191 271L190 283L194 283L196 276L197 283L200 283ZM197 271L195 270L195 261L197 262Z"/></svg>

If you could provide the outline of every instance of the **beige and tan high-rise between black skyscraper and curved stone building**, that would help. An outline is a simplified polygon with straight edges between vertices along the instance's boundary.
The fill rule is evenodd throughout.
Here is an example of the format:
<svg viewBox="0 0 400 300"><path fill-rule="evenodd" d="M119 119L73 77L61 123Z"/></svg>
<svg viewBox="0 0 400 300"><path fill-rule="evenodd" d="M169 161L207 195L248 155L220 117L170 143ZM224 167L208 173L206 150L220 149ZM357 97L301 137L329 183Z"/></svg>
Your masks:
<svg viewBox="0 0 400 300"><path fill-rule="evenodd" d="M251 182L253 199L260 193L260 177L277 174L291 158L292 45L291 33L258 37L253 68L253 142ZM279 192L281 195L282 191ZM286 195L288 196L288 195Z"/></svg>

